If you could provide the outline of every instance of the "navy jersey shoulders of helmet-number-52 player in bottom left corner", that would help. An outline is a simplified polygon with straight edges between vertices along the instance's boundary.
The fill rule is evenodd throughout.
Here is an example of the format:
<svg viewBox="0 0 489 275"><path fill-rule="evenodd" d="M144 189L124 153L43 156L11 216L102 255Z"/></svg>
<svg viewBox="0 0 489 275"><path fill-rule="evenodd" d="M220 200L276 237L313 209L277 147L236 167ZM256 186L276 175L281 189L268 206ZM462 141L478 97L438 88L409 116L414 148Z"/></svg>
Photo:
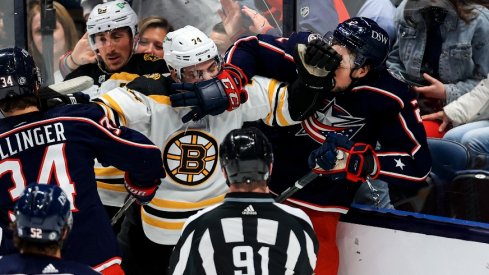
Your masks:
<svg viewBox="0 0 489 275"><path fill-rule="evenodd" d="M0 274L100 274L87 265L54 257L13 254L0 257Z"/></svg>

